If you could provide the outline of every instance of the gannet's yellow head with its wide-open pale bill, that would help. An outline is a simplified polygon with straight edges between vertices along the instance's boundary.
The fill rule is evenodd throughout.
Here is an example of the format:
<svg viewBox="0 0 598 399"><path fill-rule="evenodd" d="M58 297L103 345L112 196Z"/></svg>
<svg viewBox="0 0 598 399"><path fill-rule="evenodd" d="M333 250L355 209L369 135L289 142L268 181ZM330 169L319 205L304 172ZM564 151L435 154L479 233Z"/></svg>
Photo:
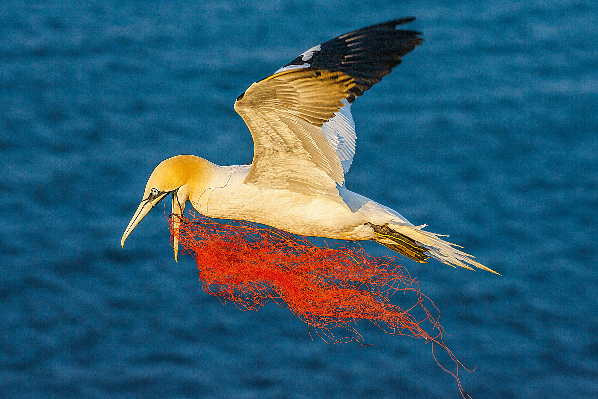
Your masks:
<svg viewBox="0 0 598 399"><path fill-rule="evenodd" d="M185 203L191 196L194 188L201 184L212 165L205 159L193 155L179 155L169 158L156 166L145 185L143 199L124 230L121 246L141 220L168 194L172 194L172 213L181 215ZM175 218L174 229L178 229L178 218ZM175 260L178 248L178 239L175 237Z"/></svg>

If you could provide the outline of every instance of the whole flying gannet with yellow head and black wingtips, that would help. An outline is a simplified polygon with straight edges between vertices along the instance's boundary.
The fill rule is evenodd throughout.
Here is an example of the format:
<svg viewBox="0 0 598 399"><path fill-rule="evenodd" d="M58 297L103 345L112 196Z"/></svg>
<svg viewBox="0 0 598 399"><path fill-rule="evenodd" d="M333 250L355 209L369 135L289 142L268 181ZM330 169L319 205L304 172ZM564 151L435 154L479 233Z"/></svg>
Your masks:
<svg viewBox="0 0 598 399"><path fill-rule="evenodd" d="M420 263L432 257L496 273L441 239L443 234L423 230L426 224L414 226L344 185L355 154L351 104L422 43L422 33L396 29L413 20L345 33L251 84L234 103L254 140L251 165L218 166L193 155L164 160L149 176L121 245L172 194L175 232L190 202L210 218L251 221L303 236L375 240ZM178 239L173 241L176 260Z"/></svg>

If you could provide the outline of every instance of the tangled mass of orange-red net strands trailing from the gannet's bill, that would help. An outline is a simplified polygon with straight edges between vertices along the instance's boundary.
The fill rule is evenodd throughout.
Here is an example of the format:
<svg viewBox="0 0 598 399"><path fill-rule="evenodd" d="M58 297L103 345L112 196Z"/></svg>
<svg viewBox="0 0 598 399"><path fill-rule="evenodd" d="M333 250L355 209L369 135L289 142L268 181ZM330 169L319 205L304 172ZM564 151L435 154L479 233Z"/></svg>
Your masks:
<svg viewBox="0 0 598 399"><path fill-rule="evenodd" d="M267 301L288 307L325 342L341 343L363 340L354 325L368 319L386 333L423 338L440 345L457 365L452 374L459 382L462 364L443 342L444 330L438 322L440 311L419 290L407 269L396 264L395 257L374 258L357 245L314 245L306 237L278 229L260 229L252 223L236 221L219 224L192 212L182 217L179 243L197 261L204 290L221 301L233 301L239 309L257 310ZM396 291L410 291L417 301L404 310L390 303ZM432 315L425 304L435 310ZM421 319L410 312L419 309ZM432 333L422 327L428 326ZM331 330L346 328L353 337L336 339ZM311 333L310 333L311 335ZM464 366L462 366L465 368ZM467 368L465 368L467 370ZM469 370L468 370L469 371ZM468 395L469 397L469 395Z"/></svg>

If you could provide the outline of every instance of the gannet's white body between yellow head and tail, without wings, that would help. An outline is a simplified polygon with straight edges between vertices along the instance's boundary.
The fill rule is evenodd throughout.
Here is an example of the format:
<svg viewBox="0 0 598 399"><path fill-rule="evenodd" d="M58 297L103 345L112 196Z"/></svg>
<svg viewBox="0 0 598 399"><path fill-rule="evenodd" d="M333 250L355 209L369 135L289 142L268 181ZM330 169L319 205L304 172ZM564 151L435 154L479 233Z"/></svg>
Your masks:
<svg viewBox="0 0 598 399"><path fill-rule="evenodd" d="M368 223L410 224L392 209L342 187L338 191L344 204L246 183L248 172L249 166L213 165L206 188L190 197L191 204L210 218L249 220L304 236L343 240L379 238Z"/></svg>

